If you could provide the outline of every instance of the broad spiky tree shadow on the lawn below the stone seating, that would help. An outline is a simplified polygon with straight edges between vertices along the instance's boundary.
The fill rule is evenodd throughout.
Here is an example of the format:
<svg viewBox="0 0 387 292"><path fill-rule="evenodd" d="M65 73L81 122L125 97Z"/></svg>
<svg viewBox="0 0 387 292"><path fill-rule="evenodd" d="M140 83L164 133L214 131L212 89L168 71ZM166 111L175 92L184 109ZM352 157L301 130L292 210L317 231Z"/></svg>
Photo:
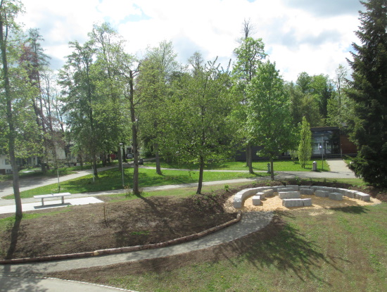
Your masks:
<svg viewBox="0 0 387 292"><path fill-rule="evenodd" d="M247 260L258 270L270 267L274 267L279 272L291 270L301 281L317 279L331 286L329 281L314 272L315 269L322 267L322 264L328 264L343 273L336 267L336 262L346 260L327 257L320 251L321 248L315 241L307 239L299 229L293 224L285 223L281 217L293 217L293 215L290 212L277 212L267 227L217 248L215 260L226 258L234 267Z"/></svg>

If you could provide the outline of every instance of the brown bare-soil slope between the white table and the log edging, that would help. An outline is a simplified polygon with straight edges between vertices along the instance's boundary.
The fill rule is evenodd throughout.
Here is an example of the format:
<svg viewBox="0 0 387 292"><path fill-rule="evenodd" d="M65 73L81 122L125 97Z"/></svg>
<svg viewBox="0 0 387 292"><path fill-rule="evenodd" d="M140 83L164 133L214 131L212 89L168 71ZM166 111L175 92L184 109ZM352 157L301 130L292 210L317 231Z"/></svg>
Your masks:
<svg viewBox="0 0 387 292"><path fill-rule="evenodd" d="M177 239L233 220L236 213L223 209L227 196L155 196L118 202L108 202L106 196L104 204L45 210L33 220L10 221L0 234L0 258L82 253Z"/></svg>

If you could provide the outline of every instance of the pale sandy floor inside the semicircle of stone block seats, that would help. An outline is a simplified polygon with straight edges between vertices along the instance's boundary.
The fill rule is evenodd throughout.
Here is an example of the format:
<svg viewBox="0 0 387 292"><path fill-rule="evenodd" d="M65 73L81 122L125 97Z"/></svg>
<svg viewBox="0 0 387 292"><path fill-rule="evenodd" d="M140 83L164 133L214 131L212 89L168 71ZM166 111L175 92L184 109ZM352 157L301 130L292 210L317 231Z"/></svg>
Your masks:
<svg viewBox="0 0 387 292"><path fill-rule="evenodd" d="M343 207L349 207L349 206L376 205L381 203L381 201L372 197L370 202L364 202L364 201L357 200L355 198L348 198L345 196L343 196L343 201L334 201L329 198L321 198L315 195L312 195L312 196L301 195L301 198L311 198L312 206L286 208L282 205L282 200L279 198L279 196L277 196L277 193L274 193L274 196L261 200L261 203L258 206L253 205L252 197L247 198L246 201L244 201L243 207L240 209L234 208L234 205L233 205L234 196L231 196L225 203L224 208L225 210L227 210L227 212L236 212L238 210L241 210L243 212L273 211L273 210L302 210L302 209L308 209L308 210L320 209L321 210L321 209L331 209L331 208L343 208Z"/></svg>

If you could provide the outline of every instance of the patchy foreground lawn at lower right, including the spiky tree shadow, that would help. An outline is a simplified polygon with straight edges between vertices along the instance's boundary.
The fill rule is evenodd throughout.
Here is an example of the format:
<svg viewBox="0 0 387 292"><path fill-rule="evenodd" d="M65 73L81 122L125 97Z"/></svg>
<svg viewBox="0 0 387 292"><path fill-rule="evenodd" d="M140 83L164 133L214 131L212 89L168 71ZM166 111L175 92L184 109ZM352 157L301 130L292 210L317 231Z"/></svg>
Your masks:
<svg viewBox="0 0 387 292"><path fill-rule="evenodd" d="M284 212L284 229L239 257L113 276L110 285L158 292L387 291L386 212L386 203Z"/></svg>

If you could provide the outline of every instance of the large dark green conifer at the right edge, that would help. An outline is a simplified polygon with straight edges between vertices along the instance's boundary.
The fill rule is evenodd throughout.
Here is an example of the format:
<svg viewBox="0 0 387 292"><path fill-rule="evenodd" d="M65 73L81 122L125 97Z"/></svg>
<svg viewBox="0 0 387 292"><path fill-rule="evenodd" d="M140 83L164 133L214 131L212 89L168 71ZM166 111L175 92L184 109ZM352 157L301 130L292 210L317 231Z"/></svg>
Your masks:
<svg viewBox="0 0 387 292"><path fill-rule="evenodd" d="M362 1L353 43L353 81L347 94L355 101L352 138L360 149L351 169L365 182L387 186L387 1Z"/></svg>

